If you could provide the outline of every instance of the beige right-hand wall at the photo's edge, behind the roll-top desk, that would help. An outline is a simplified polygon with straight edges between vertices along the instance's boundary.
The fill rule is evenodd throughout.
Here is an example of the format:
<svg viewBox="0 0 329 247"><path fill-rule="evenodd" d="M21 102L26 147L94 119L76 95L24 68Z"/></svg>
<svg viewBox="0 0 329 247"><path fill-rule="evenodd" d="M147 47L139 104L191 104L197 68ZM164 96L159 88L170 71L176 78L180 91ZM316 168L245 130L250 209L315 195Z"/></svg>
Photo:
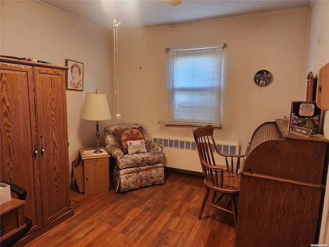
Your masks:
<svg viewBox="0 0 329 247"><path fill-rule="evenodd" d="M307 60L304 78L312 71L318 77L322 66L329 63L329 1L314 1L309 13L309 33L307 44ZM306 95L306 84L304 94ZM329 97L329 95L328 95ZM329 139L329 116L325 112L323 132ZM329 164L328 164L329 165ZM319 243L329 243L329 229L327 228L329 214L329 178L327 178L326 193L322 214L322 224Z"/></svg>

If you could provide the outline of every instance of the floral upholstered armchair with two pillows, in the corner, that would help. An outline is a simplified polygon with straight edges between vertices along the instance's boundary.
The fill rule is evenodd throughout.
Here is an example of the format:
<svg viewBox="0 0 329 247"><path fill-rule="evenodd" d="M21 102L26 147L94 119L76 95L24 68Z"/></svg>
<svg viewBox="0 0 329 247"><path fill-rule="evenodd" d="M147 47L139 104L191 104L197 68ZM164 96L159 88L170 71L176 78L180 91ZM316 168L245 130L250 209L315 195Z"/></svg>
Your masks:
<svg viewBox="0 0 329 247"><path fill-rule="evenodd" d="M104 128L111 158L111 183L116 192L165 182L163 146L149 140L145 126L117 123Z"/></svg>

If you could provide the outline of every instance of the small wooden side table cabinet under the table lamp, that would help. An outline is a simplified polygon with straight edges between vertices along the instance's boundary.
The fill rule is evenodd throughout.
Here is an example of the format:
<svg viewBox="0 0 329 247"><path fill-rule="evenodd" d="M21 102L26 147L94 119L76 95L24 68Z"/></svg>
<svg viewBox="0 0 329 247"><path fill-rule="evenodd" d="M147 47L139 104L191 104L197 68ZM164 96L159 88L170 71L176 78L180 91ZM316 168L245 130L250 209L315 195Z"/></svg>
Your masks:
<svg viewBox="0 0 329 247"><path fill-rule="evenodd" d="M103 147L103 153L93 153L95 148L79 149L80 164L75 167L74 174L80 192L85 195L107 192L109 189L109 157ZM89 153L85 155L84 153Z"/></svg>

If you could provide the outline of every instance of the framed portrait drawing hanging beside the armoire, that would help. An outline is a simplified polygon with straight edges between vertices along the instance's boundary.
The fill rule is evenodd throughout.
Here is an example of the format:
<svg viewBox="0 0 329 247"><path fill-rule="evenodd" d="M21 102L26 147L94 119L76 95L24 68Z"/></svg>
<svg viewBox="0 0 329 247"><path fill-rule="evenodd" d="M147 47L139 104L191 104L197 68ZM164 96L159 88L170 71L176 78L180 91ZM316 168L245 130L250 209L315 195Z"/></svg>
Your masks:
<svg viewBox="0 0 329 247"><path fill-rule="evenodd" d="M83 63L66 59L66 89L83 91Z"/></svg>

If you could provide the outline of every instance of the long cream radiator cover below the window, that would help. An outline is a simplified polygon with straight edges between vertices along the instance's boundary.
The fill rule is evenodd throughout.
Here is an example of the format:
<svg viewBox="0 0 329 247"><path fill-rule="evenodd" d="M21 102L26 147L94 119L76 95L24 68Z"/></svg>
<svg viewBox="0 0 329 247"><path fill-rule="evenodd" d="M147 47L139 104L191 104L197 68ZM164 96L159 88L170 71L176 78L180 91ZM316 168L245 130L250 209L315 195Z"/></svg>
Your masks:
<svg viewBox="0 0 329 247"><path fill-rule="evenodd" d="M202 172L199 156L197 154L193 138L181 138L153 135L152 140L163 145L163 153L166 155L165 167L181 170ZM216 146L222 153L240 154L240 144L216 141ZM216 164L226 164L225 158L215 154Z"/></svg>

